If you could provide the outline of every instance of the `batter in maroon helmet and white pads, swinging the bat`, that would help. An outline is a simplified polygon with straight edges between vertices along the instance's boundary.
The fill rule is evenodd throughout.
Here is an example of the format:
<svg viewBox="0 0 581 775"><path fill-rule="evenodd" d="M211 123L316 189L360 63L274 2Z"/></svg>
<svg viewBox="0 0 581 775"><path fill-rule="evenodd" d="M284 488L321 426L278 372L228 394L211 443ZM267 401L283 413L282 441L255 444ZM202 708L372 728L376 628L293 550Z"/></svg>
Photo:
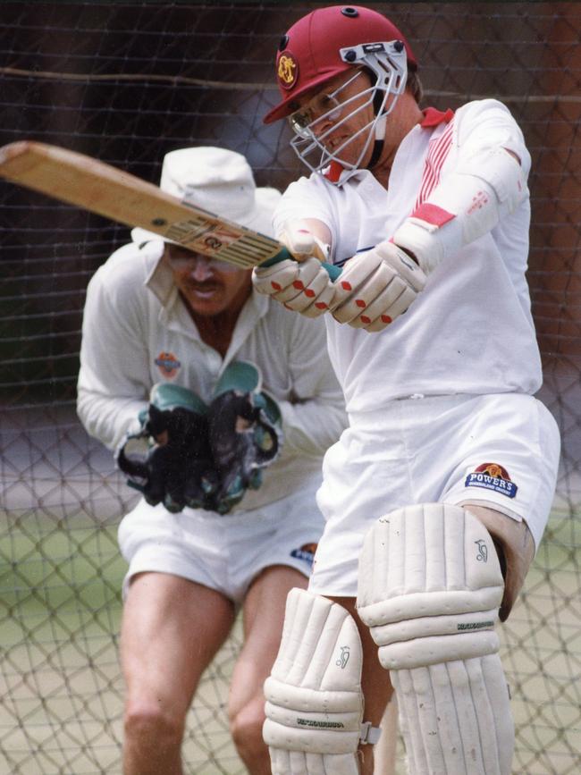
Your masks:
<svg viewBox="0 0 581 775"><path fill-rule="evenodd" d="M560 453L534 397L530 156L495 99L420 108L417 70L400 30L360 6L308 13L276 56L265 122L289 120L311 173L274 218L297 261L258 267L255 287L324 318L349 414L324 458L314 574L290 593L265 685L276 775L370 775L391 683L410 773L510 772L495 630Z"/></svg>

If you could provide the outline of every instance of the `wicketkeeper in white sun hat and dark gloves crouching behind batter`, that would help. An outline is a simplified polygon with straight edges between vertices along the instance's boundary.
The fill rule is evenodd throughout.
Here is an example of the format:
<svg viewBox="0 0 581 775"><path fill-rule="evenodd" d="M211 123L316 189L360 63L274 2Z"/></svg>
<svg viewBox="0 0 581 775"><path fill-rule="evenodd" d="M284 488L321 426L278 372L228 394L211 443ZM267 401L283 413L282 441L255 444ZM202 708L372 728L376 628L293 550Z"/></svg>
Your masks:
<svg viewBox="0 0 581 775"><path fill-rule="evenodd" d="M280 193L217 147L164 157L161 188L265 234ZM305 587L324 451L346 425L323 321L253 290L250 270L139 229L88 285L79 415L142 498L123 519L125 775L181 772L186 713L236 612L234 742L270 770L263 684L284 602Z"/></svg>

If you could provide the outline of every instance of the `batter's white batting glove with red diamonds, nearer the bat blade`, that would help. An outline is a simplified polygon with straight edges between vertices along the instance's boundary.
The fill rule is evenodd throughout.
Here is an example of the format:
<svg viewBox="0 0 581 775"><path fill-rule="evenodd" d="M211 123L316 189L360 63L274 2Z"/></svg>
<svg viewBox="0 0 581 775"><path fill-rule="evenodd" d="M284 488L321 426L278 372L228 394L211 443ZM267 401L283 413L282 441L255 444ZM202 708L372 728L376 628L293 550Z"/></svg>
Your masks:
<svg viewBox="0 0 581 775"><path fill-rule="evenodd" d="M297 260L255 267L254 287L301 315L323 315L334 294L333 282L321 265L327 257L328 246L304 229L288 230L280 240Z"/></svg>

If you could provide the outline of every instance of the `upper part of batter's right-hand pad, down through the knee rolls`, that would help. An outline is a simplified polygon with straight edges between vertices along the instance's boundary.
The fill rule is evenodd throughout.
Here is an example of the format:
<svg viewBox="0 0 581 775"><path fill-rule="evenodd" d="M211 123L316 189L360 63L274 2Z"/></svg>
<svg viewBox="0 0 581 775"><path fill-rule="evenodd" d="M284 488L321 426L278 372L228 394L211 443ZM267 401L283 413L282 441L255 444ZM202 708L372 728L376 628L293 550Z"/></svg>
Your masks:
<svg viewBox="0 0 581 775"><path fill-rule="evenodd" d="M503 588L485 526L459 506L424 503L378 519L366 535L358 613L387 669L470 659L498 651Z"/></svg>

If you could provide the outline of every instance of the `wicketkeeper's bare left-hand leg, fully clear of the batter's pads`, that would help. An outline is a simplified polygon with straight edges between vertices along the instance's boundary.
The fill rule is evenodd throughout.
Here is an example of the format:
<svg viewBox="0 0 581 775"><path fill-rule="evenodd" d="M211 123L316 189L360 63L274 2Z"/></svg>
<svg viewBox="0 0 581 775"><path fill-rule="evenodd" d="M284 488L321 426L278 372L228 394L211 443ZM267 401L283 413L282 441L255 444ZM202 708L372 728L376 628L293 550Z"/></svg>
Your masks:
<svg viewBox="0 0 581 775"><path fill-rule="evenodd" d="M232 602L206 586L163 573L134 577L121 636L125 775L181 775L189 704L233 619Z"/></svg>

